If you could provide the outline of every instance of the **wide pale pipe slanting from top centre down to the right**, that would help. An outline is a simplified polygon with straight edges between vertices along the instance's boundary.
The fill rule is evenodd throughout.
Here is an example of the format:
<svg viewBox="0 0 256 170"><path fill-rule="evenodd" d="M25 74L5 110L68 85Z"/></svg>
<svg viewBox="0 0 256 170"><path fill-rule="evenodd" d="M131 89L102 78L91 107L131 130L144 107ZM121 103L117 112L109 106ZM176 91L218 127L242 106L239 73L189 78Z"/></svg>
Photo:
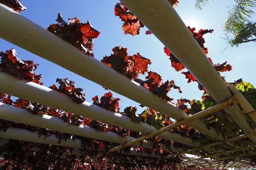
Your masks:
<svg viewBox="0 0 256 170"><path fill-rule="evenodd" d="M179 59L216 102L222 102L232 96L168 0L120 1ZM252 131L247 120L239 114L238 105L224 110L245 133ZM250 139L256 142L255 136Z"/></svg>

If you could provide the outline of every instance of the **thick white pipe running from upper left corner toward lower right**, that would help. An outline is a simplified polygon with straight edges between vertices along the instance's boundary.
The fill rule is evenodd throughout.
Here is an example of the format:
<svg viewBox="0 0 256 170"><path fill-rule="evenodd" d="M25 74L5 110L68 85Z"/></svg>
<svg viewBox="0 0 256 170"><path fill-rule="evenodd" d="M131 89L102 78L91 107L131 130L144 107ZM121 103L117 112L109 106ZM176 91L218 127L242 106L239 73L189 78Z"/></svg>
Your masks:
<svg viewBox="0 0 256 170"><path fill-rule="evenodd" d="M0 4L0 23L5 23L0 27L0 37L4 40L173 119L181 120L188 117L184 111L172 103L165 103L138 83L114 71L97 59L87 56L73 45L2 4ZM207 126L199 120L187 125L215 139L223 140L221 135L218 136L213 129L208 130Z"/></svg>

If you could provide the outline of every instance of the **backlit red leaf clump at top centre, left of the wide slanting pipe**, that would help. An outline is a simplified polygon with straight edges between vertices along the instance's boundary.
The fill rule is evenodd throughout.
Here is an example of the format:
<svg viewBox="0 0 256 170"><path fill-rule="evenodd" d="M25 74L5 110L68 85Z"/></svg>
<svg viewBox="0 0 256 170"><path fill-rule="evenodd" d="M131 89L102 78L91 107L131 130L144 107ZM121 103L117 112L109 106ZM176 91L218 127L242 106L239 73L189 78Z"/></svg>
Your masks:
<svg viewBox="0 0 256 170"><path fill-rule="evenodd" d="M128 8L126 8L122 3L116 3L114 11L114 14L119 16L119 18L124 22L122 30L125 31L125 35L131 34L132 36L135 36L140 34L140 28L143 28L144 25L128 10Z"/></svg>

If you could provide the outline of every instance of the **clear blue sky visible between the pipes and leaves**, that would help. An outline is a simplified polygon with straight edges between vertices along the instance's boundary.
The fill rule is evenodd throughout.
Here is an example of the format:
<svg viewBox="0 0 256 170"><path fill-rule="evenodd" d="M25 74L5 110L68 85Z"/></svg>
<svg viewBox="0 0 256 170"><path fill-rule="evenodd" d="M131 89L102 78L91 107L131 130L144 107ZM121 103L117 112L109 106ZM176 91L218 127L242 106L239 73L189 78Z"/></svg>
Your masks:
<svg viewBox="0 0 256 170"><path fill-rule="evenodd" d="M96 59L100 60L105 55L110 55L113 47L122 45L128 48L128 54L130 55L140 52L143 57L151 59L152 64L148 70L160 74L164 81L167 79L175 80L175 83L181 87L183 93L179 94L176 90L170 91L168 95L175 99L173 102L176 102L176 99L181 97L201 99L202 91L198 90L197 83L187 84L185 76L171 67L169 58L163 52L163 44L154 35L145 35L147 28L142 28L140 34L135 37L123 34L122 21L115 17L113 11L115 4L118 2L117 0L74 0L72 3L70 0L21 0L21 2L27 7L27 10L20 14L43 28L47 28L51 23L56 23L55 19L58 12L61 12L64 20L75 16L83 23L89 20L91 25L101 32L99 37L94 40L93 52ZM220 53L227 46L227 43L221 38L224 37L221 25L225 22L227 12L232 8L227 8L227 6L232 5L234 5L234 0L219 0L218 3L210 3L204 7L203 11L200 11L195 8L194 0L180 0L175 10L187 26L215 30L212 34L204 36L206 40L205 47L208 47L208 57L212 58L214 63L228 61L233 66L232 71L222 74L227 81L243 78L244 81L256 85L256 79L253 78L254 63L256 61L255 51L253 50L255 49L255 43L248 42L238 48L229 47L223 53ZM102 86L90 80L84 79L0 39L0 51L6 51L13 47L16 48L20 59L33 60L39 64L35 73L42 74L44 86L49 87L55 84L57 77L69 78L76 82L77 87L84 88L87 102L92 102L93 96L102 96L107 92ZM119 102L120 111L130 105L137 106L137 113L141 113L144 110L144 108L139 107L138 103L119 94L113 94L114 97L121 99Z"/></svg>

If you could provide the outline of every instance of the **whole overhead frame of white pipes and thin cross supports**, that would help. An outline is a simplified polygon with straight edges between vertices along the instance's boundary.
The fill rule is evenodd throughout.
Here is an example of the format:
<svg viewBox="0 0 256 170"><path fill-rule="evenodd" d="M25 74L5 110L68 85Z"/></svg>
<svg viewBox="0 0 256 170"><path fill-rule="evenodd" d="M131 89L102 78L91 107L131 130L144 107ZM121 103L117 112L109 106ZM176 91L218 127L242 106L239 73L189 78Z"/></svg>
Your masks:
<svg viewBox="0 0 256 170"><path fill-rule="evenodd" d="M188 71L192 73L213 99L218 102L217 105L194 115L187 115L172 103L163 102L162 99L138 85L138 83L119 74L102 62L92 57L88 57L76 47L45 30L45 28L41 28L36 23L33 23L20 14L17 14L15 11L12 11L12 9L0 4L0 21L1 23L4 23L0 26L0 38L17 45L26 51L30 51L39 57L47 59L50 62L60 65L85 79L89 79L105 88L109 88L118 94L141 103L148 108L163 113L177 120L177 122L157 130L155 127L143 124L142 122L133 123L129 117L122 116L119 113L113 114L113 112L105 110L104 108L99 108L89 102L77 105L72 102L68 96L63 95L58 91L54 91L34 82L18 79L17 77L3 72L0 72L0 92L2 93L38 102L42 105L58 108L63 111L111 125L142 132L147 135L140 138L130 136L122 138L116 133L98 132L92 127L84 125L68 125L63 122L62 119L52 116L39 114L32 115L25 109L16 108L3 103L0 103L0 119L120 144L118 147L109 150L109 153L131 145L140 146L139 143L142 141L144 141L143 147L152 148L152 142L147 139L154 136L159 136L163 139L169 139L193 147L191 150L172 148L174 154L167 156L166 159L188 153L200 156L200 153L197 152L198 150L210 150L210 147L223 143L232 145L232 141L242 138L250 138L252 142L256 143L256 131L252 130L248 125L247 120L239 114L241 112L239 105L245 113L250 115L254 122L256 122L255 110L234 85L230 84L227 87L223 83L201 47L195 41L194 37L192 37L191 33L168 0L121 0L121 2L128 7L129 10L132 11L170 51L172 51L175 57L177 57ZM74 65L76 65L76 67ZM104 79L102 77L104 77ZM234 119L234 122L236 122L236 124L244 131L243 135L234 138L219 136L216 130L213 128L208 130L207 126L198 120L203 116L221 109L224 109ZM184 138L177 133L169 132L169 130L184 124L193 127L212 138L218 139L219 142L202 146L199 142L193 142L189 138ZM79 139L76 139L75 142L71 139L67 139L67 141L63 140L61 144L58 144L58 139L54 135L49 136L46 139L44 139L43 136L38 138L37 134L15 127L9 127L6 132L1 131L0 137L4 138L4 140L1 140L1 145L8 143L9 139L15 139L78 149L81 148L81 141ZM237 162L230 162L225 165L222 164L223 160L233 158L232 156L229 156L229 153L234 153L240 150L252 150L254 147L256 147L256 145L237 148L228 152L219 150L218 153L214 155L195 158L187 157L184 158L185 164L183 166L193 165L196 167L227 168L254 165L250 160L239 159L239 157L246 155L236 156L238 158ZM161 144L161 148L163 150L169 150L164 144ZM36 149L37 148L34 148L34 150ZM63 155L63 158L66 157L65 154ZM73 150L72 154L79 155L80 153L79 151ZM130 154L136 155L134 152ZM224 154L227 155L224 159L218 159L218 156ZM100 156L102 156L102 153L97 155L97 157ZM92 158L89 157L86 160L90 159ZM76 164L79 163L80 162L77 162ZM76 164L73 165L73 169ZM180 166L182 167L182 165Z"/></svg>

